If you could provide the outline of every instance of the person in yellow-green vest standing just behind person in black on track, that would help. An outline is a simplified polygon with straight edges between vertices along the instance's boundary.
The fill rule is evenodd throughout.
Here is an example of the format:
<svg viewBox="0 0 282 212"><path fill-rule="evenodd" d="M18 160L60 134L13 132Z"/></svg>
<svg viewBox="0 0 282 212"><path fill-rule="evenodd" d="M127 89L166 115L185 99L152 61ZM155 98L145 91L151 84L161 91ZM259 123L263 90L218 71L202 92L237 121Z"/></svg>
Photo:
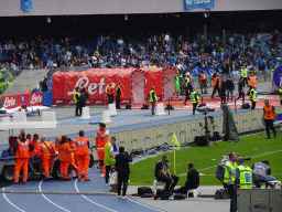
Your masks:
<svg viewBox="0 0 282 212"><path fill-rule="evenodd" d="M106 144L105 146L105 166L106 166L106 176L105 176L105 181L106 181L106 187L109 186L109 173L112 165L116 165L116 159L113 156L113 145L116 142L116 138L111 137L110 141Z"/></svg>

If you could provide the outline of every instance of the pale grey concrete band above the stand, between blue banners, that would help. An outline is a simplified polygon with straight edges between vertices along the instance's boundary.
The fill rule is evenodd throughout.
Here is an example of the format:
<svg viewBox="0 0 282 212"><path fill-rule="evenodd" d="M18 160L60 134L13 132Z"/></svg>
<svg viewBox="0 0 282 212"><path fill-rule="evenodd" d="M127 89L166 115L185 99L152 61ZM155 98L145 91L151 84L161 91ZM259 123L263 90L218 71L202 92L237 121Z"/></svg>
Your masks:
<svg viewBox="0 0 282 212"><path fill-rule="evenodd" d="M278 9L282 9L281 0L215 0L215 7L210 11ZM24 12L21 9L21 0L0 0L1 17L198 11L206 10L195 9L186 11L184 9L184 0L33 0L33 10Z"/></svg>

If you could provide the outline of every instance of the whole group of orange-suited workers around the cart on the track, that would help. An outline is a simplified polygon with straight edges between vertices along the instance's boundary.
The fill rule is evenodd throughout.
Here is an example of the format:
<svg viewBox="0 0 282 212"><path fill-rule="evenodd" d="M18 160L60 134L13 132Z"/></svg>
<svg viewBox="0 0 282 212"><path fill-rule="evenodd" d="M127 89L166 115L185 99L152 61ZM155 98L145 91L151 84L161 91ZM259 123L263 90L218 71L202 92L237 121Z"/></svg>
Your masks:
<svg viewBox="0 0 282 212"><path fill-rule="evenodd" d="M29 158L41 158L40 168L43 171L41 178L45 181L50 180L50 170L53 167L54 158L58 156L61 165L61 179L70 180L68 167L73 167L76 171L76 177L78 181L83 179L85 181L90 181L88 178L89 169L89 140L85 137L84 130L79 130L79 137L75 140L67 138L67 136L57 136L55 145L47 141L46 137L41 137L41 144L37 142L39 135L34 134L33 138L31 135L21 132L18 138L14 139L12 148L15 152L15 166L14 166L14 183L19 183L20 172L23 172L22 183L26 183L29 173ZM109 130L106 129L105 124L99 124L99 129L96 132L96 149L100 160L100 169L102 176L106 174L106 168L104 165L105 160L105 146L109 142Z"/></svg>

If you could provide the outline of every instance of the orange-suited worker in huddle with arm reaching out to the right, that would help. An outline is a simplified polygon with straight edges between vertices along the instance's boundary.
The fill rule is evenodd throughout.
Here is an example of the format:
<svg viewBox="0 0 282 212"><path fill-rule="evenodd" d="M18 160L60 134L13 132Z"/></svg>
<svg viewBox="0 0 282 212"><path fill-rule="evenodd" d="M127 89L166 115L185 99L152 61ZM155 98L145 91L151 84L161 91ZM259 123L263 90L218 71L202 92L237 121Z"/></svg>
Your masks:
<svg viewBox="0 0 282 212"><path fill-rule="evenodd" d="M76 149L72 149L69 144L67 142L67 137L62 136L62 141L57 147L57 151L58 151L58 160L61 165L61 179L69 180L67 170L73 160L72 152L76 151Z"/></svg>

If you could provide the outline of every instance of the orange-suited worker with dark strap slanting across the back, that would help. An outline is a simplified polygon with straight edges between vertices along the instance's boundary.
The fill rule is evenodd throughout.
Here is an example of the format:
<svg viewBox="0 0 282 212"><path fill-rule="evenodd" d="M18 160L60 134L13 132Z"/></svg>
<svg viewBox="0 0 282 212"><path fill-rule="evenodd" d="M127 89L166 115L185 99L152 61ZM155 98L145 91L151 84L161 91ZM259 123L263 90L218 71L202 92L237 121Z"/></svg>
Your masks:
<svg viewBox="0 0 282 212"><path fill-rule="evenodd" d="M47 141L44 136L41 137L41 144L39 145L41 165L45 172L45 180L50 179L50 169L53 166L53 158L55 157L55 147L51 141Z"/></svg>

